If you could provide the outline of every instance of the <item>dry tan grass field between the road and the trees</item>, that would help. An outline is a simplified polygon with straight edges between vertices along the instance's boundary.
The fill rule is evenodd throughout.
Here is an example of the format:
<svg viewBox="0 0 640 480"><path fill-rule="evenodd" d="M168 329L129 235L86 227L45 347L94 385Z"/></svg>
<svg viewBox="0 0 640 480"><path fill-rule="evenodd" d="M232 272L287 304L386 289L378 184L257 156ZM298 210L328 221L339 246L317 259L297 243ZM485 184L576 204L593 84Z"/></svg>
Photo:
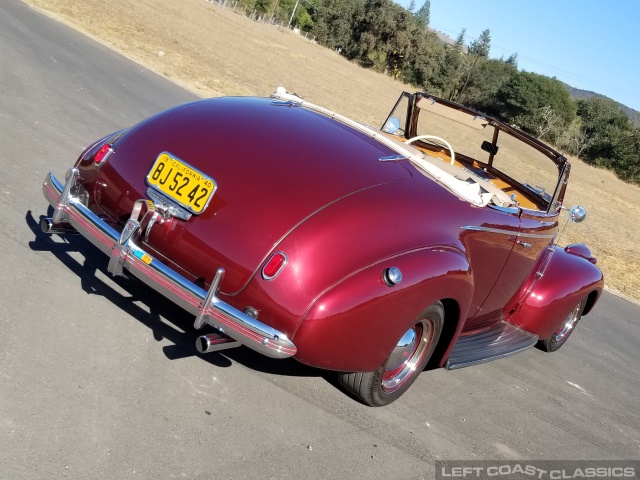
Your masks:
<svg viewBox="0 0 640 480"><path fill-rule="evenodd" d="M411 90L205 0L25 1L202 96L265 96L283 85L379 125L402 90ZM578 159L572 166L565 204L586 206L589 218L570 225L561 243L586 241L608 288L640 300L640 188Z"/></svg>

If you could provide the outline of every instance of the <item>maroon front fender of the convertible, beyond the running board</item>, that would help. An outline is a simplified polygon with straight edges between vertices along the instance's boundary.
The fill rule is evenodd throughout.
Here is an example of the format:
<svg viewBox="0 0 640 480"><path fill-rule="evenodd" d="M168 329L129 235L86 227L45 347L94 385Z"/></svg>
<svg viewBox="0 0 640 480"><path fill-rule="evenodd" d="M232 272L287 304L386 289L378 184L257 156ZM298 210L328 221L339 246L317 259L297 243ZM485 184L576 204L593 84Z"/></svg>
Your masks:
<svg viewBox="0 0 640 480"><path fill-rule="evenodd" d="M509 322L548 338L584 297L588 296L584 313L593 308L604 288L604 278L588 249L573 247L553 247L546 267L532 272L520 300L507 309L507 313L513 309Z"/></svg>

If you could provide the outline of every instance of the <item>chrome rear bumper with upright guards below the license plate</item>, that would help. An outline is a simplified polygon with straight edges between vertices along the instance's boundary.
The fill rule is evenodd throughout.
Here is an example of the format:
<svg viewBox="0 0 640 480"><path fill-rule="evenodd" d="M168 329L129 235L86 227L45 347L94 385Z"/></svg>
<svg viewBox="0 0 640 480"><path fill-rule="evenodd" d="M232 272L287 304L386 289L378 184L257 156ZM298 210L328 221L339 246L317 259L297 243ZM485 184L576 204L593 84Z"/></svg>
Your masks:
<svg viewBox="0 0 640 480"><path fill-rule="evenodd" d="M296 354L296 346L286 335L216 296L218 284L224 274L223 269L218 270L208 292L198 287L136 245L140 224L133 216L120 233L85 207L74 195L77 178L76 168L69 169L64 185L52 173L47 175L42 191L55 209L49 221L50 228L61 225L59 231L64 231L72 226L109 256L111 273L117 275L123 269L128 270L151 288L196 315L195 328L209 324L268 357L287 358Z"/></svg>

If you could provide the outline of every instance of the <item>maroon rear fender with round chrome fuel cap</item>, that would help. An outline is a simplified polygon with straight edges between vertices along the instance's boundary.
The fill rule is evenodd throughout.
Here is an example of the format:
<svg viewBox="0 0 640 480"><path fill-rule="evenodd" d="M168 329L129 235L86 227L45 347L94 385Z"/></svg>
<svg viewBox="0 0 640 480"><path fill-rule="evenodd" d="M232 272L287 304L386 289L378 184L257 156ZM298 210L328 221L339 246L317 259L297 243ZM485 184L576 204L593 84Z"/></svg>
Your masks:
<svg viewBox="0 0 640 480"><path fill-rule="evenodd" d="M403 279L389 287L382 273L392 266ZM472 290L469 263L459 250L429 248L387 258L348 275L314 300L292 338L296 359L331 370L373 371L434 302L451 299L466 318Z"/></svg>

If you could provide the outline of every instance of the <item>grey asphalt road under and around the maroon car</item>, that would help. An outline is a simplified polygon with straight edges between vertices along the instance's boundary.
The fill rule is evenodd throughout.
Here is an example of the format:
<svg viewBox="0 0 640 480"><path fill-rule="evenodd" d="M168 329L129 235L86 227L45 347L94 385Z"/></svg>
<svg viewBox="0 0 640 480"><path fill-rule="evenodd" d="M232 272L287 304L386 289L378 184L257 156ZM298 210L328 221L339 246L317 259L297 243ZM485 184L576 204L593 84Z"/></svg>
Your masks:
<svg viewBox="0 0 640 480"><path fill-rule="evenodd" d="M39 233L47 171L193 98L0 3L0 479L410 479L436 459L640 458L640 308L611 294L557 353L428 372L373 409L293 360L197 356L189 315L113 280L82 238Z"/></svg>

